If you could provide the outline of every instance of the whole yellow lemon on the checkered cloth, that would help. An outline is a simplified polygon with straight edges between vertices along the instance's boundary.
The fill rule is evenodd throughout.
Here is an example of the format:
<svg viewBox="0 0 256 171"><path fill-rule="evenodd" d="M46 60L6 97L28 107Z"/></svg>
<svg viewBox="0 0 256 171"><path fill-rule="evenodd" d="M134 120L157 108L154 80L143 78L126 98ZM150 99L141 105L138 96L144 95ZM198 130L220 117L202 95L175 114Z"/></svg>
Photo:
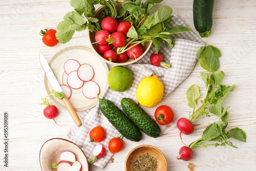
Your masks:
<svg viewBox="0 0 256 171"><path fill-rule="evenodd" d="M136 96L141 105L153 108L163 97L163 83L156 75L144 77L138 84Z"/></svg>

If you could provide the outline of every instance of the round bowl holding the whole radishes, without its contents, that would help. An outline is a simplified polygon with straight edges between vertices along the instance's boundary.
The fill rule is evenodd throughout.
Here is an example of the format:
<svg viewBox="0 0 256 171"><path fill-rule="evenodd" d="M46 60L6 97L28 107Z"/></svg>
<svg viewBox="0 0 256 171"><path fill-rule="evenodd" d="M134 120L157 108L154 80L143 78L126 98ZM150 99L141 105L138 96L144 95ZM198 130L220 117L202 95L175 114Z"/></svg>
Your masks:
<svg viewBox="0 0 256 171"><path fill-rule="evenodd" d="M122 7L122 4L123 4L123 1L118 1L118 5L117 5L117 10L120 9ZM104 10L105 7L104 6L101 6L99 7L97 10L96 10L96 13L95 13L95 17L98 18L98 19L101 19L101 12L102 10ZM142 46L143 50L144 50L144 53L138 57L137 59L131 59L131 58L128 58L126 61L124 62L119 62L119 61L116 61L116 62L111 62L109 60L106 60L103 58L103 55L98 53L97 51L97 44L95 43L95 34L96 32L93 31L91 32L90 30L88 30L88 39L89 39L89 42L90 42L90 45L91 45L91 48L93 50L93 52L96 54L96 56L98 56L101 60L107 62L107 63L110 63L112 65L116 65L116 66L124 66L124 65L129 65L131 63L134 63L138 60L140 60L146 53L148 50L150 50L150 47L152 45L152 41L146 41L144 46Z"/></svg>

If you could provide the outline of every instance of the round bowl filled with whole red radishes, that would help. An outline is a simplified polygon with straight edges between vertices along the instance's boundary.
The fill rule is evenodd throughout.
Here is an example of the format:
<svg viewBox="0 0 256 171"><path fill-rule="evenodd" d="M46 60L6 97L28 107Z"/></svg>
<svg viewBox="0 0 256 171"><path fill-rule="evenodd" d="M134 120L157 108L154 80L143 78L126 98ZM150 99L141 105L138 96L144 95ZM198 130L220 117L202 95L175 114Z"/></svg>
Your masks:
<svg viewBox="0 0 256 171"><path fill-rule="evenodd" d="M123 1L118 1L117 11L122 7L122 4ZM94 16L101 21L102 30L91 32L88 29L88 38L94 53L101 60L116 66L129 65L140 60L150 49L152 41L145 41L143 45L137 44L137 41L132 43L133 38L127 35L131 23L127 20L122 22L123 18L111 16L102 18L101 12L104 10L105 6L99 7ZM144 20L141 21L141 25Z"/></svg>

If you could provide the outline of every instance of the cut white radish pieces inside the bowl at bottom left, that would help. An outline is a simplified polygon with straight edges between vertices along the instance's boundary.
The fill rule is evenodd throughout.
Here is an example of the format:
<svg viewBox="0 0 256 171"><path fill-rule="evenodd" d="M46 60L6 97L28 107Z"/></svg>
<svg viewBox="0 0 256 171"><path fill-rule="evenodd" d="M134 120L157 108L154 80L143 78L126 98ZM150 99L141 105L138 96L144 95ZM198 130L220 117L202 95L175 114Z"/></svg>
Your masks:
<svg viewBox="0 0 256 171"><path fill-rule="evenodd" d="M57 171L80 171L82 164L76 160L74 153L65 151L60 154L60 161L57 163L52 162L51 169Z"/></svg>

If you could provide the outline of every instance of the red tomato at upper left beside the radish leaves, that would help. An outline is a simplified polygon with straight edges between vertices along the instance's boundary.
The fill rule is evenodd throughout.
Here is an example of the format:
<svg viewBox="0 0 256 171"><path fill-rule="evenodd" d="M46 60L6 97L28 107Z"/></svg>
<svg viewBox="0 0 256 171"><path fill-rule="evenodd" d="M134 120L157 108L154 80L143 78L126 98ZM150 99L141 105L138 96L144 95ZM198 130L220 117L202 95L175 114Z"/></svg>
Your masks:
<svg viewBox="0 0 256 171"><path fill-rule="evenodd" d="M57 31L54 29L45 29L44 31L40 31L40 35L42 36L42 42L46 46L53 47L58 44L59 40L57 40L55 33Z"/></svg>

